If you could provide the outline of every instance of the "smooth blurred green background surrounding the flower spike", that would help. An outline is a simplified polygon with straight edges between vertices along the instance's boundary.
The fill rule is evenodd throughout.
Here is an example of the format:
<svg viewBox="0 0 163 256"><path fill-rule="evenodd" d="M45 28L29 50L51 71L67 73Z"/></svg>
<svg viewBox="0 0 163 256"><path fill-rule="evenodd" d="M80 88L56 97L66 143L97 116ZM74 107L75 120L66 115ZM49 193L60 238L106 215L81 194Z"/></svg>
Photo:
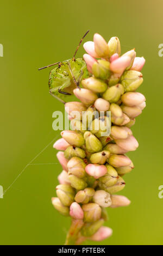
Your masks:
<svg viewBox="0 0 163 256"><path fill-rule="evenodd" d="M139 91L147 99L147 107L133 127L140 144L129 154L135 169L124 176L127 185L121 192L131 205L108 209L106 225L113 235L88 243L163 244L163 199L158 197L158 187L163 185L163 57L158 56L158 46L163 43L162 8L161 0L1 2L0 185L7 190L19 175L0 199L1 245L62 245L65 241L70 219L51 204L61 172L53 143L32 165L27 164L60 137L60 131L52 130L52 113L64 112L64 106L48 94L49 70L37 68L72 57L87 29L90 33L85 41L92 40L96 32L107 41L118 36L122 53L135 47L137 56L146 58ZM80 47L77 56L83 53Z"/></svg>

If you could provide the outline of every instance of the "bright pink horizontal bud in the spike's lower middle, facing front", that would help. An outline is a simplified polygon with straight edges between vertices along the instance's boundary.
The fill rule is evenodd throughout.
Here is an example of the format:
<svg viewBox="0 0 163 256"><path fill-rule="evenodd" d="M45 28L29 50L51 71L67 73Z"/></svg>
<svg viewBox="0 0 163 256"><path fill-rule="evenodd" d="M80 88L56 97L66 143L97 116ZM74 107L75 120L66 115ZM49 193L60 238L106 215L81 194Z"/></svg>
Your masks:
<svg viewBox="0 0 163 256"><path fill-rule="evenodd" d="M107 168L104 165L99 164L87 164L85 167L86 173L93 176L95 179L105 175L107 173Z"/></svg>

